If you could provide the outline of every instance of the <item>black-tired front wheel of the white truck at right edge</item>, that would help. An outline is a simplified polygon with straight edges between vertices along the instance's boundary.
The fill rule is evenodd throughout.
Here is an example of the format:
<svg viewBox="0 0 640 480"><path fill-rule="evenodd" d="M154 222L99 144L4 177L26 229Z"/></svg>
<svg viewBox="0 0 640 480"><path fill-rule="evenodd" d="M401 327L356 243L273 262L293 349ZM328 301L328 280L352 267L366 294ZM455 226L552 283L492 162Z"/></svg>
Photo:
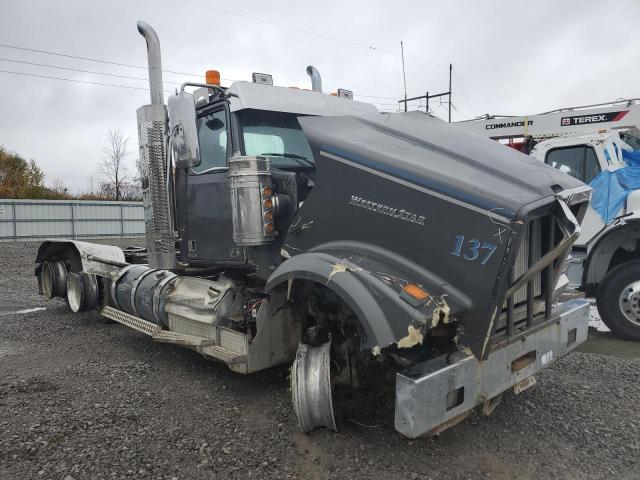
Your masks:
<svg viewBox="0 0 640 480"><path fill-rule="evenodd" d="M602 321L625 340L640 341L640 260L625 262L604 277L596 296Z"/></svg>

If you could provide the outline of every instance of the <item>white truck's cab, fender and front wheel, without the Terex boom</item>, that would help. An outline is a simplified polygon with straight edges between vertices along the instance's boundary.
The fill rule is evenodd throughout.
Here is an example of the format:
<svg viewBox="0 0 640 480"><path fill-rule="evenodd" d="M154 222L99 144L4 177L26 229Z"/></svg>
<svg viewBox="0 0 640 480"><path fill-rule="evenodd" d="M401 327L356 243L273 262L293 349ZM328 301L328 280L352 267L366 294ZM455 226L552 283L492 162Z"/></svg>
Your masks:
<svg viewBox="0 0 640 480"><path fill-rule="evenodd" d="M610 184L594 180L601 172L628 168L623 151L638 148L640 131L626 128L544 140L531 156L593 183L594 195L607 201ZM640 340L640 190L630 191L615 212L607 205L603 215L589 204L567 274L570 287L596 297L600 316L614 333Z"/></svg>

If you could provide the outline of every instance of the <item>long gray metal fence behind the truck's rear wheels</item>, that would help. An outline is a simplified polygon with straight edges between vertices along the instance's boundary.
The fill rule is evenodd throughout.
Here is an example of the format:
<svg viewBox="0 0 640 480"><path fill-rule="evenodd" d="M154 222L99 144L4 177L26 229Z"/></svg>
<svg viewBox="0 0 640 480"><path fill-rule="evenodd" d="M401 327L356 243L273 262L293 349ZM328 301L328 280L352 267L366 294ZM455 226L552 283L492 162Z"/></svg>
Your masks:
<svg viewBox="0 0 640 480"><path fill-rule="evenodd" d="M142 202L0 199L0 241L139 235Z"/></svg>

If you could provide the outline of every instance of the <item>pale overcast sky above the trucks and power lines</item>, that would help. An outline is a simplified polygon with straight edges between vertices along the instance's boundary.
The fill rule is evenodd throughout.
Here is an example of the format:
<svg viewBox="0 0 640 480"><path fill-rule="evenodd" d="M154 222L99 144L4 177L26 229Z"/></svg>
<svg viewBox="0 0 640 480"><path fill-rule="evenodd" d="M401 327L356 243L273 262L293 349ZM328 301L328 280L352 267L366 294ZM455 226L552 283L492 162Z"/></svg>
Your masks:
<svg viewBox="0 0 640 480"><path fill-rule="evenodd" d="M277 85L309 87L305 67L312 64L325 90L389 97L358 99L395 109L393 99L403 95L403 40L409 96L446 90L453 63L455 120L640 96L639 16L634 0L0 0L0 44L144 66L136 30L142 19L158 32L165 69L215 68L223 79L242 80L264 72ZM145 78L143 69L6 46L0 58L3 71L147 86L6 60ZM74 193L86 190L109 129L130 138L133 170L135 111L149 103L148 92L7 73L0 85L0 145L35 159L48 184L61 179ZM444 118L446 106L435 113Z"/></svg>

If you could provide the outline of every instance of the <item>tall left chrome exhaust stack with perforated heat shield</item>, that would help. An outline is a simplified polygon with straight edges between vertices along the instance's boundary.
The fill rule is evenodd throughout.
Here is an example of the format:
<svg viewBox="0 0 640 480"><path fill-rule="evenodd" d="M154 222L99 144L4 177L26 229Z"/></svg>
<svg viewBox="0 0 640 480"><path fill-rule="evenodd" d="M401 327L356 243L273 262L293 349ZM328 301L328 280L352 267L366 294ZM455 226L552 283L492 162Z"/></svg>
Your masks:
<svg viewBox="0 0 640 480"><path fill-rule="evenodd" d="M151 268L172 269L176 253L167 192L167 109L162 91L160 41L145 22L138 22L138 31L147 41L151 91L151 104L136 112L148 261Z"/></svg>

